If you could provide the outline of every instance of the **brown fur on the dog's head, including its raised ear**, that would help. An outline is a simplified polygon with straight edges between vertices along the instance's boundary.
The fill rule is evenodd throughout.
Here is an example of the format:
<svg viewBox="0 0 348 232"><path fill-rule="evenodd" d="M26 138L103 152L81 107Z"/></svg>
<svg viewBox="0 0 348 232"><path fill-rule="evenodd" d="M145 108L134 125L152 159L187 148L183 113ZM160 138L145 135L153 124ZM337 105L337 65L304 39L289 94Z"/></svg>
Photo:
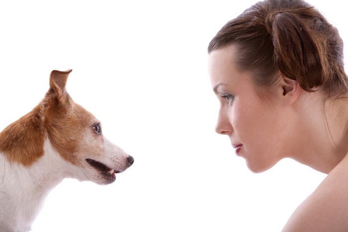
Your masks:
<svg viewBox="0 0 348 232"><path fill-rule="evenodd" d="M50 76L50 90L44 104L45 128L52 147L65 160L79 165L78 153L86 128L92 130L96 119L82 106L76 104L65 89L71 70L53 71ZM89 131L90 133L92 131Z"/></svg>

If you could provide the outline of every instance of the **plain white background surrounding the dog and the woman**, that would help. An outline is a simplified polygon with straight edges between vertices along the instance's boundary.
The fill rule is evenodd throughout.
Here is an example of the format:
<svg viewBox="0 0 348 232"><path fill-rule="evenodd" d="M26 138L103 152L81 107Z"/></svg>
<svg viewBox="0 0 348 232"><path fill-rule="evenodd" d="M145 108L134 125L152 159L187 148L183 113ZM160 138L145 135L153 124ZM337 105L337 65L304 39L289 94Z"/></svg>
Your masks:
<svg viewBox="0 0 348 232"><path fill-rule="evenodd" d="M280 231L324 174L286 159L254 174L214 126L207 46L255 0L1 1L0 130L29 112L52 70L134 156L111 185L66 179L33 232ZM311 0L348 43L346 8ZM347 56L347 53L346 53Z"/></svg>

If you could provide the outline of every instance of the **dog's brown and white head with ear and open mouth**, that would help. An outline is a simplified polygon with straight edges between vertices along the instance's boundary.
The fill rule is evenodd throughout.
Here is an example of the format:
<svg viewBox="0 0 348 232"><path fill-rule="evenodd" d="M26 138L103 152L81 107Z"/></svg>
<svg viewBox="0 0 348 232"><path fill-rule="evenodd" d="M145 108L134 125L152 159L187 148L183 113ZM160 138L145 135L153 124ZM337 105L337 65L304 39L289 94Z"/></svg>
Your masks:
<svg viewBox="0 0 348 232"><path fill-rule="evenodd" d="M112 183L134 159L109 142L100 121L72 100L65 88L70 72L51 73L50 89L41 103L47 136L53 149L83 173L81 180Z"/></svg>

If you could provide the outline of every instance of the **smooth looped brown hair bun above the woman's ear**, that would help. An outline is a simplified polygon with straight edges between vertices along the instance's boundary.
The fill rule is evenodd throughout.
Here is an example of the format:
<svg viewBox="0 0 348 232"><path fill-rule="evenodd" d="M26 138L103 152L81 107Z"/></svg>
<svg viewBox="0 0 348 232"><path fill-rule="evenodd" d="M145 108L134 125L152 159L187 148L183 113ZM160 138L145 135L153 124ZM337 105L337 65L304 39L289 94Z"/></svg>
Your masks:
<svg viewBox="0 0 348 232"><path fill-rule="evenodd" d="M310 28L308 20L292 12L274 14L272 41L274 61L281 73L308 91L325 81L328 61L323 38Z"/></svg>

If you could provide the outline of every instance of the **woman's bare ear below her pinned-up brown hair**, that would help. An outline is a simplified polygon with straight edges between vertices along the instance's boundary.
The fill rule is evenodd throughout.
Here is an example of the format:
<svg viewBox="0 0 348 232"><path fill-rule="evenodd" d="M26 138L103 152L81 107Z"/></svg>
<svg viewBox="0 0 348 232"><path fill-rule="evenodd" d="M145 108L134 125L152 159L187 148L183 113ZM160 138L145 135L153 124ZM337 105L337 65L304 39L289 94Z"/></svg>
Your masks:
<svg viewBox="0 0 348 232"><path fill-rule="evenodd" d="M301 86L297 80L285 77L283 74L280 75L279 81L277 82L279 95L285 104L291 105L294 103L301 92Z"/></svg>

